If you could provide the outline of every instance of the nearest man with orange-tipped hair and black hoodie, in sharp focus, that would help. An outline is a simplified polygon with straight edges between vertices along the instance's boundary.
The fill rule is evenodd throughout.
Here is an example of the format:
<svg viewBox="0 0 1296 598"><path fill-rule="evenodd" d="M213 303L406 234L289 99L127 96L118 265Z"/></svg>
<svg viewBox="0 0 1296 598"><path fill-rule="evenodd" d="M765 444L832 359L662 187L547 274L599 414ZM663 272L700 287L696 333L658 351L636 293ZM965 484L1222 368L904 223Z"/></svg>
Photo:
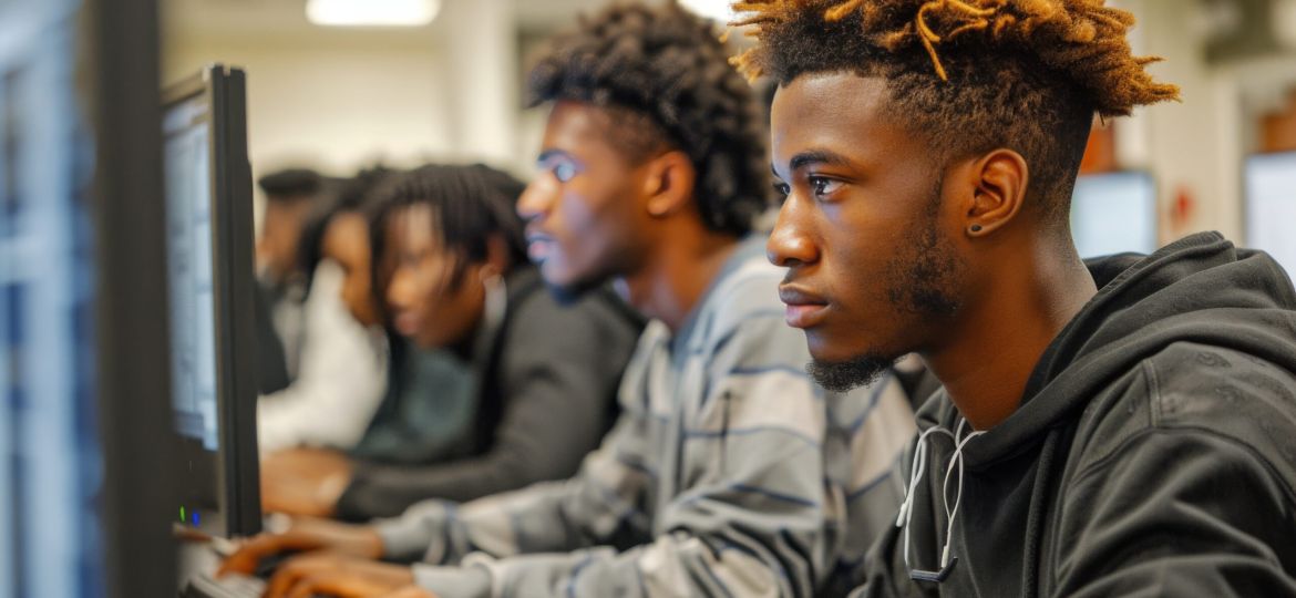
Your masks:
<svg viewBox="0 0 1296 598"><path fill-rule="evenodd" d="M1296 595L1296 291L1217 233L1081 261L1090 123L1177 98L1102 0L739 3L813 370L918 352L857 595Z"/></svg>

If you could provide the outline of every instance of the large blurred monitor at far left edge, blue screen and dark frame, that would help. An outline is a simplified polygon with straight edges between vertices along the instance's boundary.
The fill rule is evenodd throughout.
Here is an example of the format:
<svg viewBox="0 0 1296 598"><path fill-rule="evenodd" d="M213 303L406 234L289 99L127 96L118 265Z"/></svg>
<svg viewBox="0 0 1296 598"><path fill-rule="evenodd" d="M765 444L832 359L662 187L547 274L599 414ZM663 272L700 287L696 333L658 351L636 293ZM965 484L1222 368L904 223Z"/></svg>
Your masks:
<svg viewBox="0 0 1296 598"><path fill-rule="evenodd" d="M0 0L0 598L175 595L156 0Z"/></svg>

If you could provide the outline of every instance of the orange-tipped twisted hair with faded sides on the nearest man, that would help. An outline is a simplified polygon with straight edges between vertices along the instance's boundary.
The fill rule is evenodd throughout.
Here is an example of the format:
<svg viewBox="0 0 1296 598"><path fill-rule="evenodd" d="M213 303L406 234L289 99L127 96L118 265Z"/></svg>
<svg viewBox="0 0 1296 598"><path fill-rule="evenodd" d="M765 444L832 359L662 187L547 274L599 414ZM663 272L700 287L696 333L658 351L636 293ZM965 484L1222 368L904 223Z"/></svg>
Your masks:
<svg viewBox="0 0 1296 598"><path fill-rule="evenodd" d="M1125 39L1134 17L1103 0L737 1L757 45L734 60L787 84L853 71L886 82L883 110L940 148L936 159L1020 153L1028 192L1065 217L1093 116L1178 100Z"/></svg>

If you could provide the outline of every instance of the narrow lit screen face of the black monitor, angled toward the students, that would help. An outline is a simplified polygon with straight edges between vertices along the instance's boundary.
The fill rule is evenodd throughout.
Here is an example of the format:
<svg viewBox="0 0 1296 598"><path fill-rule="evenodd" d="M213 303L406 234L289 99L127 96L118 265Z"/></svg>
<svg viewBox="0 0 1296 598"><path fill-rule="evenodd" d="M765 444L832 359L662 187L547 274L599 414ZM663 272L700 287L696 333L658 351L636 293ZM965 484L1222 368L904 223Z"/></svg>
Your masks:
<svg viewBox="0 0 1296 598"><path fill-rule="evenodd" d="M170 106L163 132L175 426L181 436L200 440L214 452L220 441L207 109L205 96Z"/></svg>

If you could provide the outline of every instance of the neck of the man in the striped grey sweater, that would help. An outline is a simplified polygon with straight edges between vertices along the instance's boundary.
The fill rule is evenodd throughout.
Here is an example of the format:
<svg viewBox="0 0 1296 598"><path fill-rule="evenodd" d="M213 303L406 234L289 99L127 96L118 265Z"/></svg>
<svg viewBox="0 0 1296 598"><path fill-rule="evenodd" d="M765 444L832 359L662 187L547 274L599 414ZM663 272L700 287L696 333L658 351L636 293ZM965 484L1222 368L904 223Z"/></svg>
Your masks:
<svg viewBox="0 0 1296 598"><path fill-rule="evenodd" d="M654 245L643 267L622 280L623 294L640 313L678 333L737 247L737 239L689 219L669 227Z"/></svg>

